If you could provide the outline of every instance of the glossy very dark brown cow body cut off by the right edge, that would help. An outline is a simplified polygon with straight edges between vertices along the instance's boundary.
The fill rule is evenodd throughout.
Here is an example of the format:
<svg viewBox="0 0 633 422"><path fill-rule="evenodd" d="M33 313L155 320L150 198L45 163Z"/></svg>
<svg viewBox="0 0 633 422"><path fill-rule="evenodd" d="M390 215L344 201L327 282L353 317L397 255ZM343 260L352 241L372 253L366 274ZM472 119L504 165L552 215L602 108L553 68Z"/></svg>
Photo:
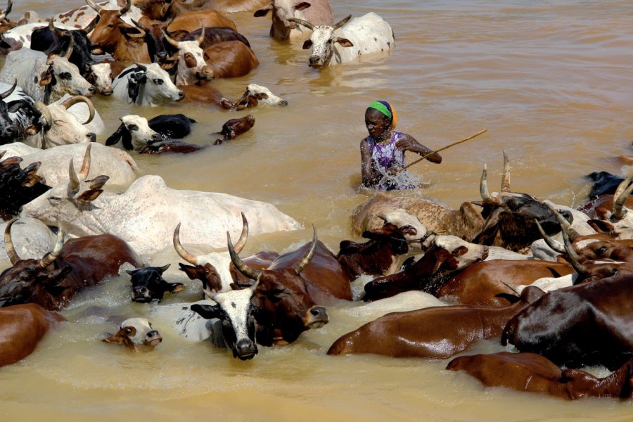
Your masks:
<svg viewBox="0 0 633 422"><path fill-rule="evenodd" d="M514 316L501 337L558 365L613 370L633 354L633 276L553 290Z"/></svg>

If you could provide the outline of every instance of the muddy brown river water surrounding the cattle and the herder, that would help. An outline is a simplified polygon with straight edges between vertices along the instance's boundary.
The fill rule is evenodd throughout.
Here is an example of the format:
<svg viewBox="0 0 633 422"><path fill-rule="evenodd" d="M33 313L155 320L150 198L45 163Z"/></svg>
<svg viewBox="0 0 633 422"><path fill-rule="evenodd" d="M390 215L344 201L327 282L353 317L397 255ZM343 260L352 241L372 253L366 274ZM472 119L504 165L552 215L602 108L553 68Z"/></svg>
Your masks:
<svg viewBox="0 0 633 422"><path fill-rule="evenodd" d="M392 25L395 49L360 63L314 70L301 43L269 39L269 18L229 15L260 66L246 77L213 82L237 99L262 84L288 100L285 108L238 113L205 106L127 106L96 98L106 122L103 143L124 114L185 113L198 120L186 141L207 144L212 132L248 113L256 122L235 141L200 153L134 156L144 174L168 186L231 193L273 203L307 229L249 238L243 256L309 241L311 224L334 250L350 234L350 215L371 197L359 189L364 110L390 101L398 129L443 151L443 162L411 167L421 186L411 195L453 207L478 200L484 164L499 190L502 151L511 160L513 191L564 205L583 202L584 174L620 173L616 158L633 141L633 2L613 1L332 1L335 19L375 11ZM16 1L11 18L79 6L75 1ZM407 155L408 162L416 158ZM106 185L107 186L107 185ZM198 245L198 250L205 250ZM168 281L186 291L164 303L195 300L199 283L177 271L173 250L152 257L172 263ZM2 421L631 421L633 402L564 402L485 389L448 361L372 355L330 357L340 335L362 325L347 309L329 307L331 323L289 347L260 347L249 362L209 344L187 343L155 320L163 335L155 352L134 354L101 342L116 327L107 316L149 316L129 303L129 277L83 293L65 310L69 320L22 362L0 369ZM99 310L102 309L101 311ZM105 314L103 309L106 309ZM485 342L479 351L500 350Z"/></svg>

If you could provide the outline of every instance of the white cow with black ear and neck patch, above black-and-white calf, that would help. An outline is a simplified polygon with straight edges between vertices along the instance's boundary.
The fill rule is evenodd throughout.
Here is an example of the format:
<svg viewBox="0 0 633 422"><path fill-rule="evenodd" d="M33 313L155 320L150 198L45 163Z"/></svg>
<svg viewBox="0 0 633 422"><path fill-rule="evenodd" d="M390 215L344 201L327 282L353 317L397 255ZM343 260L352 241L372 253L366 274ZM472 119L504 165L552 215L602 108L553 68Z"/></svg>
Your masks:
<svg viewBox="0 0 633 422"><path fill-rule="evenodd" d="M112 87L113 96L128 104L158 106L184 98L184 92L174 85L170 75L158 63L128 66L115 77Z"/></svg>

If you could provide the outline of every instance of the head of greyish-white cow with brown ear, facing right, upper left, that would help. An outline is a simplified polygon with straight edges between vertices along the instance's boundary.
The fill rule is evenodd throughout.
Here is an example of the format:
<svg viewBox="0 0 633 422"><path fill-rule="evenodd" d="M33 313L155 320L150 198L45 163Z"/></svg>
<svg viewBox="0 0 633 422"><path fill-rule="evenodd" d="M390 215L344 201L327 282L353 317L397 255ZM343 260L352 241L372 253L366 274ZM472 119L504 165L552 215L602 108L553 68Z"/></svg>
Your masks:
<svg viewBox="0 0 633 422"><path fill-rule="evenodd" d="M77 66L68 61L69 57L69 52L64 56L49 55L44 66L45 69L39 77L38 75L34 77L35 82L44 87L44 91L48 94L45 101L57 101L65 94L71 96L91 96L94 94L94 87L79 73Z"/></svg>

